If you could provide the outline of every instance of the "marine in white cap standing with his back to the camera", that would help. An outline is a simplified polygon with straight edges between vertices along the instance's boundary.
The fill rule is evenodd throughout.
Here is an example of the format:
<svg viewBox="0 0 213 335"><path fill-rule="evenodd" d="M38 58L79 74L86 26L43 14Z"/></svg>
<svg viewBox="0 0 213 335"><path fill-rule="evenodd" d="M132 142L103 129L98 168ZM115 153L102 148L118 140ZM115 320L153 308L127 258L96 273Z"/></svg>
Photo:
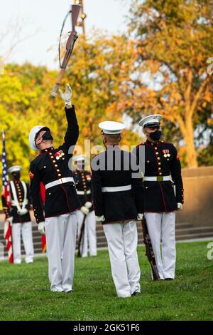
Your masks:
<svg viewBox="0 0 213 335"><path fill-rule="evenodd" d="M106 151L91 162L94 212L107 238L117 296L131 297L141 292L136 219L143 211L142 176L136 157L119 148L124 125L106 121L99 128Z"/></svg>

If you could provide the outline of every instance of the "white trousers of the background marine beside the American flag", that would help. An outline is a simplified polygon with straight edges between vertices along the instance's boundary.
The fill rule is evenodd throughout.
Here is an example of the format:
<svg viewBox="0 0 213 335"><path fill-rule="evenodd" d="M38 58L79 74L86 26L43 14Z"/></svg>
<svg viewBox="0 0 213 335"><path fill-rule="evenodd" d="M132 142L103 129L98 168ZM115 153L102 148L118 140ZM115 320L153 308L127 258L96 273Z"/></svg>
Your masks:
<svg viewBox="0 0 213 335"><path fill-rule="evenodd" d="M26 263L33 263L33 235L32 223L13 223L12 225L12 243L13 243L13 262L21 264L21 235L23 239L23 247L25 249Z"/></svg>

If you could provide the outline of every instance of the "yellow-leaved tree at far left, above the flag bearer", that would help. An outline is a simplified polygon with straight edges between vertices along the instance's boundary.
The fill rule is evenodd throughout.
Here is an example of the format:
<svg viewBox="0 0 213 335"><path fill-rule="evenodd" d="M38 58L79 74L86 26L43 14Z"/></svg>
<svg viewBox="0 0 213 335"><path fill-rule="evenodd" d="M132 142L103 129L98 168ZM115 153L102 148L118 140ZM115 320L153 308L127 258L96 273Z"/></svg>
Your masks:
<svg viewBox="0 0 213 335"><path fill-rule="evenodd" d="M26 180L29 160L35 157L28 145L28 133L46 116L40 105L46 71L45 67L29 63L8 64L0 76L0 124L6 132L8 163L22 165Z"/></svg>

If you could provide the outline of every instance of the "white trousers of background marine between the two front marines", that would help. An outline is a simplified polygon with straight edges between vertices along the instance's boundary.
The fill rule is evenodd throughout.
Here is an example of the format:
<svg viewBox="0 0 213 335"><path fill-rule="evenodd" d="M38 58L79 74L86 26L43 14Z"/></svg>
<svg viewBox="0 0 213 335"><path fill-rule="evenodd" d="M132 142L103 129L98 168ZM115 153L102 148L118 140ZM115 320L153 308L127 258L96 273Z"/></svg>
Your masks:
<svg viewBox="0 0 213 335"><path fill-rule="evenodd" d="M84 214L80 210L78 210L77 211L78 238L80 237L83 220L84 220ZM89 244L90 256L97 256L96 220L94 210L92 210L92 212L89 212L89 214L87 214L85 220L84 234L82 236L82 242L80 244L82 257L88 256L88 244Z"/></svg>

